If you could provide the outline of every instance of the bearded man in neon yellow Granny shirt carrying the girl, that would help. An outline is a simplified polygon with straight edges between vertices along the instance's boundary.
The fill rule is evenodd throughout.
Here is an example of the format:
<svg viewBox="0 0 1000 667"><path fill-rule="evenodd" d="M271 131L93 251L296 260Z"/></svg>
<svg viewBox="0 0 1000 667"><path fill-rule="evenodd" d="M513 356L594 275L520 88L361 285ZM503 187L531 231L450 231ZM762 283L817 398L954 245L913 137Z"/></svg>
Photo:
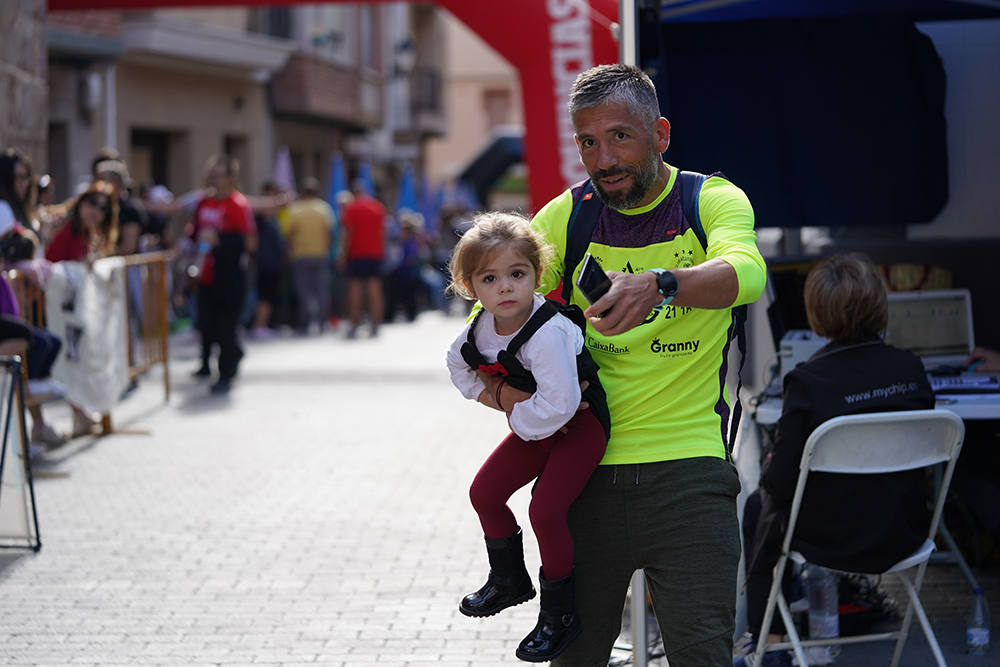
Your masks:
<svg viewBox="0 0 1000 667"><path fill-rule="evenodd" d="M567 223L576 203L595 204L596 194L586 250L610 269L611 286L589 306L579 288L570 300L586 308L585 344L600 366L611 435L569 513L583 634L552 665L608 664L640 568L671 667L731 665L740 483L726 444L726 376L735 309L764 289L753 209L734 184L707 178L696 209L701 242L678 169L661 157L670 123L642 70L584 71L569 112L593 192L573 186L533 219L556 254L539 291L575 283L579 267L563 275ZM509 385L499 395L505 409L527 399Z"/></svg>

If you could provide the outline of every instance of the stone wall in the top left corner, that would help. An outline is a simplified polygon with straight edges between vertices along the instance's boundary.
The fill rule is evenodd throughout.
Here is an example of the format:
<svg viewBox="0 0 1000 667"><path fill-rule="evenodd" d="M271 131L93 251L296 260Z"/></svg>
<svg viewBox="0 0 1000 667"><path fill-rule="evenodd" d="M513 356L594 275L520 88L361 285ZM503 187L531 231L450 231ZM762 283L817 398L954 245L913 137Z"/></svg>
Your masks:
<svg viewBox="0 0 1000 667"><path fill-rule="evenodd" d="M0 148L44 168L48 132L45 0L0 2Z"/></svg>

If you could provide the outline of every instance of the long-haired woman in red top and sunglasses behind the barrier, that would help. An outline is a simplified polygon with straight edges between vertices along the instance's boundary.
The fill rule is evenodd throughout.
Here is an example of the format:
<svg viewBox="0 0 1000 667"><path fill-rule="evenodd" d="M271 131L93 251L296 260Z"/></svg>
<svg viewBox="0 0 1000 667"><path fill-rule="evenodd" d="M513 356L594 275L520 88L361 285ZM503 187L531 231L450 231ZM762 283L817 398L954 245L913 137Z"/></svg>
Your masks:
<svg viewBox="0 0 1000 667"><path fill-rule="evenodd" d="M93 261L114 252L118 202L110 184L95 181L81 194L56 230L45 258L50 262Z"/></svg>

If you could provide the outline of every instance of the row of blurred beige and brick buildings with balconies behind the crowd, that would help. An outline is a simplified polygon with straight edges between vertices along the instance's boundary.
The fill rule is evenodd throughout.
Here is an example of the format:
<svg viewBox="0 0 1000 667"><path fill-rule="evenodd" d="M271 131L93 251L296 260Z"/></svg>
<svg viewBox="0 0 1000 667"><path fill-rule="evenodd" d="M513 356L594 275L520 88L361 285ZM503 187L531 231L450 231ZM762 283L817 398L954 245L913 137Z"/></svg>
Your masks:
<svg viewBox="0 0 1000 667"><path fill-rule="evenodd" d="M438 111L436 125L421 125L410 105L415 63L434 62L420 29L437 11L397 2L53 12L47 162L57 194L112 146L134 181L175 193L199 187L219 152L239 158L243 189L257 192L286 152L292 185L326 182L341 154L352 170L371 163L391 195L402 163L422 169L422 144L443 124Z"/></svg>

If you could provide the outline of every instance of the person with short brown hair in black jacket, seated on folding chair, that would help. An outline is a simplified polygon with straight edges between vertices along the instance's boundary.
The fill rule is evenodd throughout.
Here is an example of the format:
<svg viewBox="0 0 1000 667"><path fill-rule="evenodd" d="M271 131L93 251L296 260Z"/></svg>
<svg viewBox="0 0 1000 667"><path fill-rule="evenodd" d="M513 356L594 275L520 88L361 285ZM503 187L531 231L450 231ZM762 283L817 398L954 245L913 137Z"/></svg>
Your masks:
<svg viewBox="0 0 1000 667"><path fill-rule="evenodd" d="M867 258L838 255L818 264L806 278L805 306L809 326L830 343L785 376L774 445L761 471L760 489L747 501L747 617L755 639L812 431L842 415L934 407L920 359L882 341L889 317L885 287ZM929 489L923 471L857 475L849 492L842 476L832 477L810 474L802 498L793 546L807 560L879 572L926 539ZM776 615L771 634L783 631ZM742 660L735 664L747 664ZM789 665L790 657L766 653L763 664Z"/></svg>

